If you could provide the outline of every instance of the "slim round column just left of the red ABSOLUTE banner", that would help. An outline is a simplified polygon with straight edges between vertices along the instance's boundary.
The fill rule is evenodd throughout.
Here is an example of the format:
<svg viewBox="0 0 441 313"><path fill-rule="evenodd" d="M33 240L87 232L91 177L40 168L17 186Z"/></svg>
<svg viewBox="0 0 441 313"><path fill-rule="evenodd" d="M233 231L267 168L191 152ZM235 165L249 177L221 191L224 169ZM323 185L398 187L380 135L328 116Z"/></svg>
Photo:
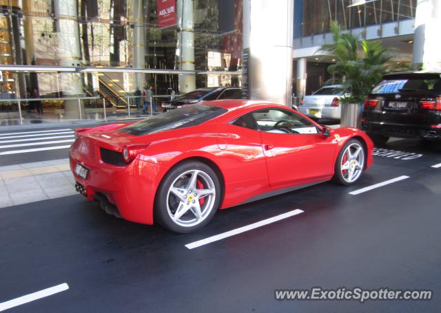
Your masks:
<svg viewBox="0 0 441 313"><path fill-rule="evenodd" d="M145 68L143 0L133 1L133 67ZM144 74L135 74L135 89L143 90Z"/></svg>

